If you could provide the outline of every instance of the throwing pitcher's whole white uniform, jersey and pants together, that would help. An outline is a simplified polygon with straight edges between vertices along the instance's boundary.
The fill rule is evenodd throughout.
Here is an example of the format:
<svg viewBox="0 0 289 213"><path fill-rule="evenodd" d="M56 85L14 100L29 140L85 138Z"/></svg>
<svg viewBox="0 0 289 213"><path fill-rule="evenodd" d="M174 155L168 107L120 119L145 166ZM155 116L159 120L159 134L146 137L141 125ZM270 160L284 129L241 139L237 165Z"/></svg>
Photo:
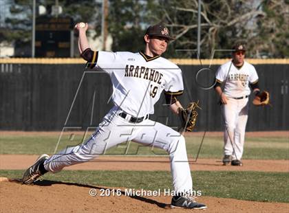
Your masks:
<svg viewBox="0 0 289 213"><path fill-rule="evenodd" d="M160 56L149 57L141 52L94 52L92 63L87 65L103 69L110 75L116 106L105 115L92 137L83 144L69 146L52 155L43 163L45 169L58 172L65 166L95 159L109 148L131 141L141 146L162 148L169 153L175 192L193 192L184 136L169 126L149 120L149 117L133 122L127 116L120 116L123 111L134 117L153 113L153 104L160 98L162 90L180 95L183 91L180 68Z"/></svg>

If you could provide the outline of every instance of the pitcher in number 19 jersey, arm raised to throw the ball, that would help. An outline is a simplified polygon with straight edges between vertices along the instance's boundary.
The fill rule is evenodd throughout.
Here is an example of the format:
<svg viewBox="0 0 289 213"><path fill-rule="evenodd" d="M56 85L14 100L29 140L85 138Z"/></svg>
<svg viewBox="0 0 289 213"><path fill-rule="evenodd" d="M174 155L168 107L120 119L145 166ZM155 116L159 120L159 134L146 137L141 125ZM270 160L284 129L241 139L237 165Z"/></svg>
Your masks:
<svg viewBox="0 0 289 213"><path fill-rule="evenodd" d="M153 114L153 106L163 90L171 111L176 114L182 111L177 99L183 92L182 71L160 57L173 39L167 27L161 24L150 26L143 38L144 52L131 53L92 51L86 36L88 25L81 25L76 24L81 56L87 60L87 67L103 70L111 77L114 107L85 144L67 148L52 157L41 155L25 171L23 183L33 183L47 171L58 172L65 166L89 161L108 148L131 140L169 153L173 188L178 192L172 198L172 207L206 208L190 196L193 183L184 137L168 126L149 120L149 114Z"/></svg>

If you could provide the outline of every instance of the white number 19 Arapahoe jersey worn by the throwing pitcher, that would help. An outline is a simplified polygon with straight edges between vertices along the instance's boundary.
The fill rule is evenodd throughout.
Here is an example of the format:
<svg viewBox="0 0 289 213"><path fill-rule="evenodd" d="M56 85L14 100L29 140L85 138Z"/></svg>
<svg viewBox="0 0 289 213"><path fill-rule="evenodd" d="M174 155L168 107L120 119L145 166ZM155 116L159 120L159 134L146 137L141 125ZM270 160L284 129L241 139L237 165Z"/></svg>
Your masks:
<svg viewBox="0 0 289 213"><path fill-rule="evenodd" d="M153 114L153 105L163 90L175 96L184 90L180 68L160 56L149 58L142 52L94 52L87 67L100 68L111 76L114 103L135 117Z"/></svg>

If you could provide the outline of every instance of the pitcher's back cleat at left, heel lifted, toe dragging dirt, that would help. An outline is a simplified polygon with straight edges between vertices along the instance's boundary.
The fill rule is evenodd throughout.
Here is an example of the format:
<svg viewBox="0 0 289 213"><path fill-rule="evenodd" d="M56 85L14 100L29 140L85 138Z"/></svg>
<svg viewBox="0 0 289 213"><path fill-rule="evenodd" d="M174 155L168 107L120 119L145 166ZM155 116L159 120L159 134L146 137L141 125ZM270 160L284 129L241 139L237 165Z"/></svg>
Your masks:
<svg viewBox="0 0 289 213"><path fill-rule="evenodd" d="M25 170L24 175L22 177L22 184L30 185L35 181L38 181L41 175L44 175L44 172L41 172L39 166L44 163L46 159L49 158L49 155L43 154L41 155L35 163L30 166L27 170ZM43 165L42 165L43 166Z"/></svg>

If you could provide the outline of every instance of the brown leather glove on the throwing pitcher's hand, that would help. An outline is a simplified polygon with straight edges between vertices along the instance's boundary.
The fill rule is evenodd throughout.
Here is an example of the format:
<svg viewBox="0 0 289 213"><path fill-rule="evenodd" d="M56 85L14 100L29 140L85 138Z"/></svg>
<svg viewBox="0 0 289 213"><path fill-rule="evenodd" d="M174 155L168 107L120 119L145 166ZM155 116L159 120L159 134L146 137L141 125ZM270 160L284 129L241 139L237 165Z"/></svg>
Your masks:
<svg viewBox="0 0 289 213"><path fill-rule="evenodd" d="M197 108L202 109L198 106L199 101L189 103L186 109L179 108L178 115L180 117L181 127L184 131L193 131L195 123L197 122Z"/></svg>

